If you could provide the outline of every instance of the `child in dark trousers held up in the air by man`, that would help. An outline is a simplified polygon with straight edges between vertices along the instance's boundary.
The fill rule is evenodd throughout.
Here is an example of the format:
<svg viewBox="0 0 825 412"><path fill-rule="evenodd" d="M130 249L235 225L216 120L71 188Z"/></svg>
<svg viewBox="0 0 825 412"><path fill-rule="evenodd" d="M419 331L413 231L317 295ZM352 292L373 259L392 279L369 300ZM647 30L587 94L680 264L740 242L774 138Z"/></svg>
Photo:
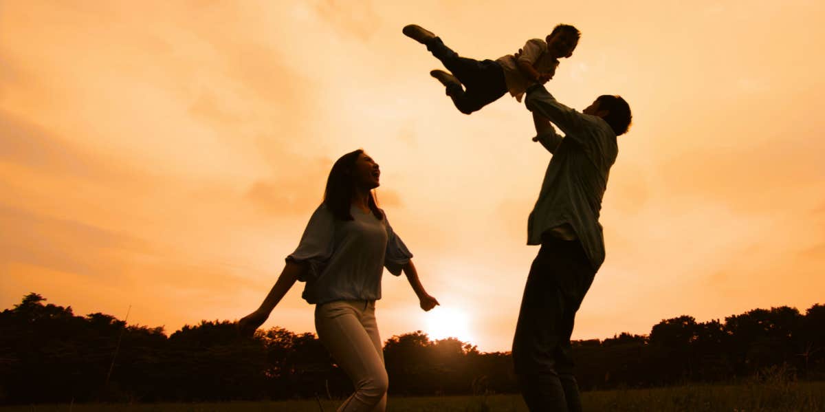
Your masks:
<svg viewBox="0 0 825 412"><path fill-rule="evenodd" d="M446 87L447 96L466 115L495 102L507 92L521 102L528 86L544 84L553 78L559 59L573 55L581 36L576 27L560 24L545 40L527 40L516 55L479 61L460 57L444 45L441 38L422 26L404 26L403 34L427 45L427 50L450 70L451 73L432 70L430 75Z"/></svg>

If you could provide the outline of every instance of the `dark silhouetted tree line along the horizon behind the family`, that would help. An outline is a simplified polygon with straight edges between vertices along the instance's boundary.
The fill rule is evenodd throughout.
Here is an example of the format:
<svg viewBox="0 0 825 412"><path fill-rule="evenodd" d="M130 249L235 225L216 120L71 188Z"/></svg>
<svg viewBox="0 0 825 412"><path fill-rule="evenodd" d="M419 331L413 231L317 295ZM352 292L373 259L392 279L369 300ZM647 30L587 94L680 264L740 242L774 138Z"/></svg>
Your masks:
<svg viewBox="0 0 825 412"><path fill-rule="evenodd" d="M0 403L281 400L342 397L351 383L314 334L274 327L252 339L231 321L171 335L114 316L73 314L31 293L0 312ZM780 371L825 377L825 305L781 306L696 322L662 320L648 335L573 342L582 390L728 382ZM390 395L515 393L508 352L481 353L421 331L384 343Z"/></svg>

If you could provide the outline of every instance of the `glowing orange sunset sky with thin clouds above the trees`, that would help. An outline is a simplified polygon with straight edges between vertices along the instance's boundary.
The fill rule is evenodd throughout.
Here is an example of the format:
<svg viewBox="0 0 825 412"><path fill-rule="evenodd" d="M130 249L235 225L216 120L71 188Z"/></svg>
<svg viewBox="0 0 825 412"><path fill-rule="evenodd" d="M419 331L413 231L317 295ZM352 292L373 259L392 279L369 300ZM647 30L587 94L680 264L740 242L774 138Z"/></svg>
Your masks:
<svg viewBox="0 0 825 412"><path fill-rule="evenodd" d="M441 302L384 272L383 339L512 342L550 159L509 96L471 116L401 29L496 59L558 23L548 89L620 94L606 261L573 339L825 303L825 2L0 1L0 309L29 292L167 333L257 308L363 148ZM314 332L295 287L265 328Z"/></svg>

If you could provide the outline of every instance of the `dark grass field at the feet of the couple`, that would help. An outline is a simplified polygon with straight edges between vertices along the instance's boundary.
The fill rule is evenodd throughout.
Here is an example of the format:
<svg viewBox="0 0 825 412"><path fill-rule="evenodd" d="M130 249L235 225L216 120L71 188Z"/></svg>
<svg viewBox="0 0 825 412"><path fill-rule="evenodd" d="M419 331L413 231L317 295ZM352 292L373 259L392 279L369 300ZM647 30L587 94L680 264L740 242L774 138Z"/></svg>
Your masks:
<svg viewBox="0 0 825 412"><path fill-rule="evenodd" d="M0 412L332 412L339 400L217 404L92 404L6 406ZM582 394L586 411L825 411L825 382L677 386ZM526 412L519 395L390 397L390 412Z"/></svg>

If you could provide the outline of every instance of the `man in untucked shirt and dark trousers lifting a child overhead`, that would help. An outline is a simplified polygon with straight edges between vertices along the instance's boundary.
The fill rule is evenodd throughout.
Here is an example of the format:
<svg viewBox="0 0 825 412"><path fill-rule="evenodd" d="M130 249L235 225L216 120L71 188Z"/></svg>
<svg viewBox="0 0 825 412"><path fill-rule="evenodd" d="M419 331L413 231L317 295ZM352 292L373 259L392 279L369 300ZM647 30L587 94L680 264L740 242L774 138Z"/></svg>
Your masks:
<svg viewBox="0 0 825 412"><path fill-rule="evenodd" d="M616 136L630 125L630 107L621 97L604 95L578 112L539 84L527 89L526 107L533 112L533 140L553 158L528 220L527 244L541 248L521 300L513 362L530 411L579 411L570 335L576 311L604 262L601 198L618 154Z"/></svg>

